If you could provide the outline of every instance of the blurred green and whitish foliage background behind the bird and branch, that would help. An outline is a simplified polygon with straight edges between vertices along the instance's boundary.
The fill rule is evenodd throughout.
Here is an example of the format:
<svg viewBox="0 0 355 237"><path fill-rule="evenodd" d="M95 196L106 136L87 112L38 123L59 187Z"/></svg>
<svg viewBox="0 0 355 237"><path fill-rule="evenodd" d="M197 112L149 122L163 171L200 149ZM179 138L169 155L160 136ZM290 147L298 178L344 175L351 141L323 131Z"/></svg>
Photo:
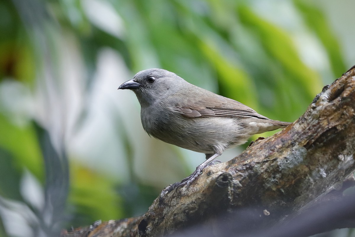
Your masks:
<svg viewBox="0 0 355 237"><path fill-rule="evenodd" d="M320 2L1 0L0 236L141 215L203 161L144 133L140 70L295 121L355 61Z"/></svg>

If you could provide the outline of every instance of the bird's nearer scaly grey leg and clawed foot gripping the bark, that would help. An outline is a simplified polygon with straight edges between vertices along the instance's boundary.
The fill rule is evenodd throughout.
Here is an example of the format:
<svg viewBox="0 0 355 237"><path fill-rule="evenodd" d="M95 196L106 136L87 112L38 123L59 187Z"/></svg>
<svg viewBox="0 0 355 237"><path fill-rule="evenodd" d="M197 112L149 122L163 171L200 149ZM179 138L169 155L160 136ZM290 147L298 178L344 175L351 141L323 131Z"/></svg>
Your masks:
<svg viewBox="0 0 355 237"><path fill-rule="evenodd" d="M189 186L201 173L202 169L210 166L212 163L214 164L214 159L220 156L221 154L214 153L214 154L206 154L206 161L204 161L201 165L196 167L196 170L188 177L182 179L181 182L176 182L174 184L170 184L168 187L163 189L160 196L164 196L166 193L169 193L171 190L175 188L181 188L185 185ZM215 160L215 162L221 162L220 160Z"/></svg>

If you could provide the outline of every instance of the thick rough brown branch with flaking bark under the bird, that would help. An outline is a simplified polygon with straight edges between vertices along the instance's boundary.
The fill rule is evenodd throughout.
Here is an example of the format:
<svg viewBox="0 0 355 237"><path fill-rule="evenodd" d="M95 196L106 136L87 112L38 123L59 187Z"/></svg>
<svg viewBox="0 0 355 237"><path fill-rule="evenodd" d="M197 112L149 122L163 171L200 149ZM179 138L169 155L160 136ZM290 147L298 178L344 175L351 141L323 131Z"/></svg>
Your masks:
<svg viewBox="0 0 355 237"><path fill-rule="evenodd" d="M343 181L355 171L354 109L351 69L325 86L293 124L205 168L190 187L159 196L146 214L61 236L162 236L246 207L260 216L258 227L288 223L342 195Z"/></svg>

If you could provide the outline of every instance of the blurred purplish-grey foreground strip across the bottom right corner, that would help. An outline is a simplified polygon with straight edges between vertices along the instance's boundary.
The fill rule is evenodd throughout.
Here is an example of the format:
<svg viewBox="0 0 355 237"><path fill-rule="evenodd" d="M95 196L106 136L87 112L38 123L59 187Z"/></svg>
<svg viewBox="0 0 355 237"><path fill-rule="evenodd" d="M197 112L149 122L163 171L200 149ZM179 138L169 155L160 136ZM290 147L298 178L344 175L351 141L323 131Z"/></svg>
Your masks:
<svg viewBox="0 0 355 237"><path fill-rule="evenodd" d="M273 226L264 227L264 221L260 210L245 208L172 236L306 237L338 228L355 228L355 194L317 204Z"/></svg>

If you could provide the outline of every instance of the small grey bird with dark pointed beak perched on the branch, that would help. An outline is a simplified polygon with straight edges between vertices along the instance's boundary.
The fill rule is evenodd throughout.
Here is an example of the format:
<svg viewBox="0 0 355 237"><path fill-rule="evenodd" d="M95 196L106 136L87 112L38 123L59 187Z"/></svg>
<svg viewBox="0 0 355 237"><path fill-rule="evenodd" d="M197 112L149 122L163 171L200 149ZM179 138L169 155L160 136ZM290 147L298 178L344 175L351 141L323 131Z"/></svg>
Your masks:
<svg viewBox="0 0 355 237"><path fill-rule="evenodd" d="M170 190L189 185L225 149L244 144L254 134L291 124L271 120L164 69L140 71L119 89L135 92L141 104L142 125L149 135L206 154L206 161L189 177L171 185Z"/></svg>

